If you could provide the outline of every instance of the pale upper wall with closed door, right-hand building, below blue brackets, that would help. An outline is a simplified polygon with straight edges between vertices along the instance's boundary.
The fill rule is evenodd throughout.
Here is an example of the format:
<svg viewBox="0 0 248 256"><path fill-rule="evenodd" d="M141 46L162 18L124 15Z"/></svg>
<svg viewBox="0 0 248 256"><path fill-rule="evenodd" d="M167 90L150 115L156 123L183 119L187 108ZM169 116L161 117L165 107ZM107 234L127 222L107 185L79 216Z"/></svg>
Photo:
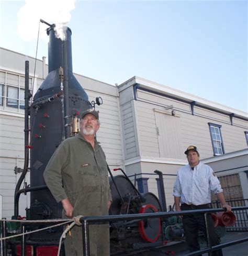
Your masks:
<svg viewBox="0 0 248 256"><path fill-rule="evenodd" d="M140 155L185 159L183 152L193 144L199 149L201 158L211 157L213 149L208 123L221 125L226 153L247 147L244 136L244 131L247 129L245 120L234 118L234 124L231 125L228 115L200 107L194 107L194 115L192 115L189 104L140 90L135 104L138 109ZM171 109L164 110L170 105L173 105L175 116L172 116ZM159 112L160 114L157 114ZM157 117L163 121L157 122L156 119L159 119ZM160 147L161 139L166 139L163 141L165 148L163 150Z"/></svg>

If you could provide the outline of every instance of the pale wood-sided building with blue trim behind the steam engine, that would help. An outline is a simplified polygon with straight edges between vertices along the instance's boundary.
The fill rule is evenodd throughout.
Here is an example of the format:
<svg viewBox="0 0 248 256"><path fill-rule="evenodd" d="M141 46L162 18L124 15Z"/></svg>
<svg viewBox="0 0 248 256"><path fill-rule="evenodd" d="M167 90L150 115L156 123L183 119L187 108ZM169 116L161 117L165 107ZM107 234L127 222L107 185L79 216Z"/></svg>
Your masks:
<svg viewBox="0 0 248 256"><path fill-rule="evenodd" d="M0 48L0 56L0 196L2 217L9 218L14 213L14 191L21 172L18 168L24 165L25 60L30 62L29 87L33 95L46 77L48 67L46 58L35 61L4 48ZM110 169L120 167L132 180L137 174L139 190L157 196L160 187L154 171L161 171L167 206L173 204L176 172L187 163L184 151L190 144L196 145L201 159L208 159L206 163L214 168L216 159L230 157L234 151L241 150L247 159L245 112L137 76L114 86L74 75L89 101L97 96L103 98L103 105L97 107L101 122L97 139ZM238 166L237 161L233 164ZM247 161L244 166L243 171L247 170ZM27 183L28 179L27 176ZM246 176L246 188L247 185ZM242 191L244 187L245 184ZM242 193L247 196L247 192ZM28 202L27 196L21 196L21 215L25 215Z"/></svg>

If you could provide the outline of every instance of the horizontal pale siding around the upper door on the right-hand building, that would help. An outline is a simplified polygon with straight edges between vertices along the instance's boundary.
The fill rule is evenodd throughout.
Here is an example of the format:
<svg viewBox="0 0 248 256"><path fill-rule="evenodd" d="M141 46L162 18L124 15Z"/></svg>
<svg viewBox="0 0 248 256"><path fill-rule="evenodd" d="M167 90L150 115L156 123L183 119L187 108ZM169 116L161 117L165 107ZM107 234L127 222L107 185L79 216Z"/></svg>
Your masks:
<svg viewBox="0 0 248 256"><path fill-rule="evenodd" d="M225 152L232 152L246 148L246 140L244 131L247 127L247 122L233 118L233 123L237 125L231 125L230 117L212 110L194 107L194 115L190 113L190 105L187 103L177 102L174 99L165 98L160 95L152 94L149 92L143 92L138 90L138 132L139 143L141 148L141 154L151 157L157 156L159 153L155 153L155 149L159 149L159 143L156 135L156 126L154 123L153 108L165 110L166 106L173 105L176 114L180 115L181 134L179 134L178 127L174 124L174 132L181 136L182 143L179 151L181 151L181 157L178 155L178 159L185 159L184 151L190 145L196 145L201 154L201 158L209 158L213 156L213 149L211 143L211 137L209 132L208 123L214 123L221 125L221 133L224 144ZM159 106L158 106L159 105ZM161 105L161 106L160 106ZM164 105L164 107L162 107ZM169 111L169 110L167 110ZM149 128L146 128L146 123L149 123ZM242 127L239 127L238 126ZM146 131L147 130L147 131ZM155 145L157 143L157 146ZM175 143L168 139L166 143L167 148L173 149ZM148 149L148 150L147 150ZM174 158L177 158L174 157Z"/></svg>

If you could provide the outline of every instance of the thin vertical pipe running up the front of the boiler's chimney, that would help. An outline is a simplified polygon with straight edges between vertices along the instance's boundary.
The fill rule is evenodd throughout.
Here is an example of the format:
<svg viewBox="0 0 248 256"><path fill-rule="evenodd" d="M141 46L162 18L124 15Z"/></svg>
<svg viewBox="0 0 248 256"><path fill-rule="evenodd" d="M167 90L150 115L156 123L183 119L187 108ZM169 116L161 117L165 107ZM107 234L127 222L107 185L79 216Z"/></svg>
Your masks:
<svg viewBox="0 0 248 256"><path fill-rule="evenodd" d="M67 65L67 41L62 41L63 70L64 70L64 118L65 118L65 139L70 137L69 126L69 86L68 86L68 65Z"/></svg>

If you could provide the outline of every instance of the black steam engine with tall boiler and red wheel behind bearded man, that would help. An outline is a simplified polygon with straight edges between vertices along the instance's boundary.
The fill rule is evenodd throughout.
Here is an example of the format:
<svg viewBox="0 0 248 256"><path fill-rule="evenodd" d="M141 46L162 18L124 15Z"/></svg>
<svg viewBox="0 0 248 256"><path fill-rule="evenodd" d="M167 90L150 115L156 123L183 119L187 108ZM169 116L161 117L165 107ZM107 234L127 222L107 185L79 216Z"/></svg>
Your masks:
<svg viewBox="0 0 248 256"><path fill-rule="evenodd" d="M44 22L44 21L42 21ZM46 22L44 22L46 23ZM47 24L47 23L46 23ZM83 87L77 82L72 72L71 30L66 29L66 40L55 37L54 25L49 25L49 74L43 81L33 102L29 106L28 65L26 64L25 82L25 165L16 186L15 214L13 219L20 218L18 211L19 196L30 192L30 208L27 209L28 220L61 218L62 207L48 190L43 180L43 172L51 155L59 143L78 132L78 116L87 108L102 104L96 99L92 104ZM30 124L29 124L30 115ZM29 133L30 131L30 133ZM30 136L30 143L29 143ZM30 168L29 163L30 150ZM30 185L20 189L27 171L30 170ZM122 171L122 170L121 170ZM123 172L123 171L122 171ZM110 215L139 214L166 211L163 176L159 171L162 193L162 206L152 193L141 194L127 175L113 177L110 172L112 205ZM7 222L7 235L36 230L46 225L20 226L16 222ZM51 228L32 233L26 239L27 256L57 255L58 241L62 228ZM183 239L183 228L179 218L148 219L139 221L119 221L110 223L111 255L131 253L163 246L168 241ZM20 241L8 242L8 255L21 255ZM63 255L63 252L62 254Z"/></svg>

